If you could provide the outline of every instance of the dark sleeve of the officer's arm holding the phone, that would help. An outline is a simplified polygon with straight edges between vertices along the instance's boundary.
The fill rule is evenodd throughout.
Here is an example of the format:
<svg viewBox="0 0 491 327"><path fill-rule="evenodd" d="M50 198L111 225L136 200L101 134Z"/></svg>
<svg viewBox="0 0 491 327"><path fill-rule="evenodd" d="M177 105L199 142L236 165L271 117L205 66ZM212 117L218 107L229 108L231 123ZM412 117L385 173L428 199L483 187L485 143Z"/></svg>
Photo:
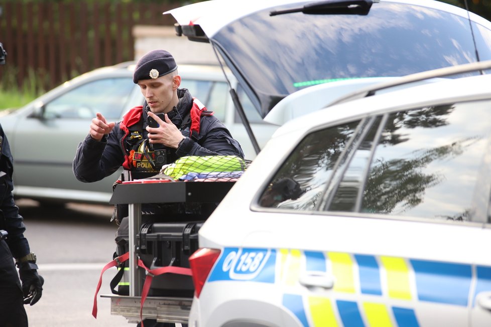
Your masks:
<svg viewBox="0 0 491 327"><path fill-rule="evenodd" d="M204 116L201 119L200 128L204 127L204 131L200 130L199 140L196 142L192 138L186 137L176 151L179 157L216 154L244 157L240 144L216 117ZM208 119L208 121L205 119Z"/></svg>

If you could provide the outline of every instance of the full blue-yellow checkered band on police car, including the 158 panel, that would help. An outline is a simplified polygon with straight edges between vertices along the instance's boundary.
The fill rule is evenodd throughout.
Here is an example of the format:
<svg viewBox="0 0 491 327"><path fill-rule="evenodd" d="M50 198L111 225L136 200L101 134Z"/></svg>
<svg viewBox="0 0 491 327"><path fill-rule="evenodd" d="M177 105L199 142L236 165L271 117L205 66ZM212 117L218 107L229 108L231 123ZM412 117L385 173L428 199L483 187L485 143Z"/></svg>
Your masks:
<svg viewBox="0 0 491 327"><path fill-rule="evenodd" d="M309 272L332 276L332 293L306 291L299 280ZM341 252L224 248L208 277L208 282L222 280L277 284L282 305L304 326L415 327L421 324L415 311L420 302L473 307L476 294L491 291L491 267Z"/></svg>

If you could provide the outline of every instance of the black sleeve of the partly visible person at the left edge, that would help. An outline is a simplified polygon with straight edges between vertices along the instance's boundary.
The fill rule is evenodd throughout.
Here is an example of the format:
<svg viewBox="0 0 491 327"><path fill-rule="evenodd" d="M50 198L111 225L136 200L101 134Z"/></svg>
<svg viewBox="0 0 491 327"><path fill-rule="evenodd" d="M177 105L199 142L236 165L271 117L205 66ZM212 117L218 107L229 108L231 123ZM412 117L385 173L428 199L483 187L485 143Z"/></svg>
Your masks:
<svg viewBox="0 0 491 327"><path fill-rule="evenodd" d="M7 244L15 258L21 258L30 253L29 242L24 237L26 226L23 217L19 215L19 208L15 205L14 160L10 151L10 145L2 127L0 126L0 229L6 230Z"/></svg>

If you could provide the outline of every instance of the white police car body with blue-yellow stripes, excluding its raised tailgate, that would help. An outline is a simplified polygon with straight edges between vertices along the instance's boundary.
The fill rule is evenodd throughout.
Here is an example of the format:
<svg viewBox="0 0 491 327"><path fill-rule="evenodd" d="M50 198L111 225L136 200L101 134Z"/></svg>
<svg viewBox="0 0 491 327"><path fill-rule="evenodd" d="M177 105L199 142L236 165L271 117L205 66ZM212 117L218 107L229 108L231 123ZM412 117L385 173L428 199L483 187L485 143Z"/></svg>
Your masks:
<svg viewBox="0 0 491 327"><path fill-rule="evenodd" d="M491 325L490 85L280 127L199 231L189 325Z"/></svg>

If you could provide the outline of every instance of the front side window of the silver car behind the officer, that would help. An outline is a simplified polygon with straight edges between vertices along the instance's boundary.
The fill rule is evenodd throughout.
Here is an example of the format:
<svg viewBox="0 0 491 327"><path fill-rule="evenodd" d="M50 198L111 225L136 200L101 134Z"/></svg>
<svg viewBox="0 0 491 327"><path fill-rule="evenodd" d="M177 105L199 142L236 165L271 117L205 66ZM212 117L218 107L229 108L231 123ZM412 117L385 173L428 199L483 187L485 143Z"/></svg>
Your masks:
<svg viewBox="0 0 491 327"><path fill-rule="evenodd" d="M48 118L92 118L97 112L115 119L126 110L133 83L128 78L106 78L90 81L45 104Z"/></svg>

